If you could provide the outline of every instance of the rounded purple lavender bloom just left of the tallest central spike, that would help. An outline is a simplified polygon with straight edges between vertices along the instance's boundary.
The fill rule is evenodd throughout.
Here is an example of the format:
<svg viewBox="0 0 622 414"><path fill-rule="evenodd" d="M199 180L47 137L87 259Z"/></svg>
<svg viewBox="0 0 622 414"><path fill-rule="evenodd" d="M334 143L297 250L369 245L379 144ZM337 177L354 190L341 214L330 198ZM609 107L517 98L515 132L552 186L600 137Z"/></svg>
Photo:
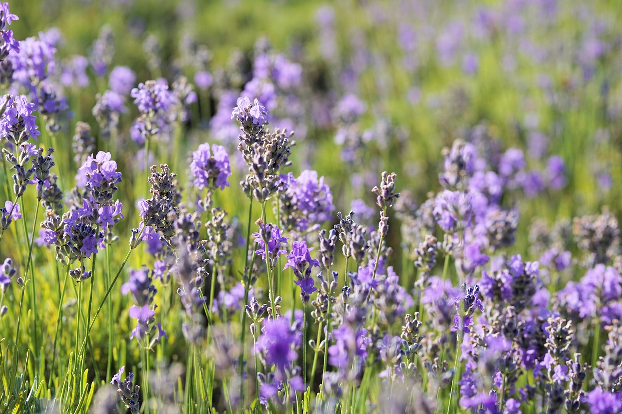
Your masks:
<svg viewBox="0 0 622 414"><path fill-rule="evenodd" d="M227 179L231 175L229 155L225 147L213 144L210 154L210 144L206 142L199 145L192 153L190 171L194 177L193 183L199 190L216 187L225 190L229 186Z"/></svg>

